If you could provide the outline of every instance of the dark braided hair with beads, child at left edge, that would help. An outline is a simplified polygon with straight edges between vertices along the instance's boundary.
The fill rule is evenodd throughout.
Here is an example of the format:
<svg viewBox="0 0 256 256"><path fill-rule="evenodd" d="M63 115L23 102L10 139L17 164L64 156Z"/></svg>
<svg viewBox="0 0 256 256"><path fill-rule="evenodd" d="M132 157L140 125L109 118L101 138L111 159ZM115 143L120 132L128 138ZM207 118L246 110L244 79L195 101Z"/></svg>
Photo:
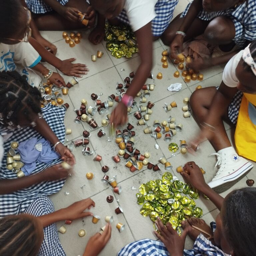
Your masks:
<svg viewBox="0 0 256 256"><path fill-rule="evenodd" d="M40 99L37 88L30 86L17 71L0 72L0 124L4 127L19 127L18 115L21 111L31 122L30 114L41 112Z"/></svg>

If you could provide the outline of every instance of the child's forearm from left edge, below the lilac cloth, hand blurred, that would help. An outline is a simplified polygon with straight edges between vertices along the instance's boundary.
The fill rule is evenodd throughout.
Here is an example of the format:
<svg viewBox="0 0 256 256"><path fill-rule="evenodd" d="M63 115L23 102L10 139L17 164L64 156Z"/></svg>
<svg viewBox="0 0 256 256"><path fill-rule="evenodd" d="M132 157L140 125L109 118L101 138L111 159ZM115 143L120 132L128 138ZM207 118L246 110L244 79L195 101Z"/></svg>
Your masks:
<svg viewBox="0 0 256 256"><path fill-rule="evenodd" d="M0 179L0 195L9 194L46 180L65 179L67 176L68 171L58 164L34 175L18 179Z"/></svg>

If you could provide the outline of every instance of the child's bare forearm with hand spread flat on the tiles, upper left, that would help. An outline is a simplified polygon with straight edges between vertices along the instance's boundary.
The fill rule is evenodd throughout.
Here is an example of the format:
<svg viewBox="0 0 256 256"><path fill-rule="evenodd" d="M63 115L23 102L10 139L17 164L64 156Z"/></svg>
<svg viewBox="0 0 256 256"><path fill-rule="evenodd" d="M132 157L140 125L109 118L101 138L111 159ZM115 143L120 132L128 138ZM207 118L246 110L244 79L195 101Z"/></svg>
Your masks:
<svg viewBox="0 0 256 256"><path fill-rule="evenodd" d="M71 62L75 61L75 58L68 60L60 60L56 56L52 55L47 51L40 43L37 42L34 38L29 38L29 43L35 48L35 50L40 54L42 59L47 61L49 64L60 70L63 74L67 76L76 76L82 77L83 74L87 74L87 69L85 64L72 64Z"/></svg>

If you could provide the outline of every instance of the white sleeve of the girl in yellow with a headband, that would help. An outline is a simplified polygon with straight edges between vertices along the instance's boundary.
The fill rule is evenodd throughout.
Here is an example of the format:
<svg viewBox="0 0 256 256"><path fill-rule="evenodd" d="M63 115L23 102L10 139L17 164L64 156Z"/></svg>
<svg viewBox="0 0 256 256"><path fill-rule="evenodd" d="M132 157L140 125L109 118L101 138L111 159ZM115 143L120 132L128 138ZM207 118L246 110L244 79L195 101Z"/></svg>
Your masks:
<svg viewBox="0 0 256 256"><path fill-rule="evenodd" d="M228 87L237 87L239 80L236 77L236 67L242 58L243 50L233 56L224 68L222 80Z"/></svg>

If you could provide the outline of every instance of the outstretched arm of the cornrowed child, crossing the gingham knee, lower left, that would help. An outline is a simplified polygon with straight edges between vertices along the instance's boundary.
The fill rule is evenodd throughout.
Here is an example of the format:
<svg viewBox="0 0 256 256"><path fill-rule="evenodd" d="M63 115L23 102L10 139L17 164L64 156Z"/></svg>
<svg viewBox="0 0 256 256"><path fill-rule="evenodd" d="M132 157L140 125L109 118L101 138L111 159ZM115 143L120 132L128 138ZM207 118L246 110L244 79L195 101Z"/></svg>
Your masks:
<svg viewBox="0 0 256 256"><path fill-rule="evenodd" d="M43 227L47 227L52 223L61 220L76 220L86 216L92 216L93 214L91 212L84 212L86 209L91 209L92 206L95 207L95 202L91 198L87 198L75 202L67 208L63 208L46 215L42 215L37 218L40 219Z"/></svg>

